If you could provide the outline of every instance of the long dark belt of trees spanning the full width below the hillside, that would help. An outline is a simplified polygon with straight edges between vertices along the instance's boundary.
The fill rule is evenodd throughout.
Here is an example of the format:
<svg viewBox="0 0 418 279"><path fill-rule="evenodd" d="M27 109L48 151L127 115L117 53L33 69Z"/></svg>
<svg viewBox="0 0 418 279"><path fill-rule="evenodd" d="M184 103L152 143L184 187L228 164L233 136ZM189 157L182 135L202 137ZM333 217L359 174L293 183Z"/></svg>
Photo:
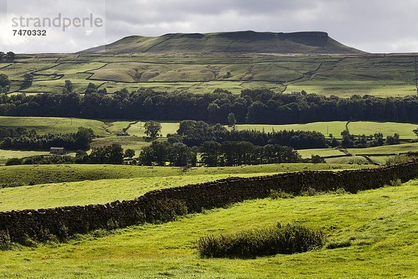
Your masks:
<svg viewBox="0 0 418 279"><path fill-rule="evenodd" d="M0 79L1 80L1 79ZM93 86L92 86L93 87ZM112 119L203 120L210 123L307 123L314 121L418 122L418 96L320 96L243 90L239 95L167 93L152 89L80 96L66 82L63 93L0 96L0 115ZM232 114L231 114L232 113Z"/></svg>

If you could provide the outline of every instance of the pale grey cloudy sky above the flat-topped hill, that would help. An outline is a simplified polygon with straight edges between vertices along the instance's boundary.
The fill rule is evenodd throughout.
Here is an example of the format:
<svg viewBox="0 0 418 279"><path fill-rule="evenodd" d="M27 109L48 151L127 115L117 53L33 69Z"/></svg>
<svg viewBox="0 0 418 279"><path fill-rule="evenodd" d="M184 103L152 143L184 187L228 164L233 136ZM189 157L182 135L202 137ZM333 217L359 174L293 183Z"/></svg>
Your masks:
<svg viewBox="0 0 418 279"><path fill-rule="evenodd" d="M130 35L254 30L326 31L367 52L418 52L417 11L417 0L0 0L0 51L77 52ZM60 14L61 26L36 28L46 36L13 36L29 18Z"/></svg>

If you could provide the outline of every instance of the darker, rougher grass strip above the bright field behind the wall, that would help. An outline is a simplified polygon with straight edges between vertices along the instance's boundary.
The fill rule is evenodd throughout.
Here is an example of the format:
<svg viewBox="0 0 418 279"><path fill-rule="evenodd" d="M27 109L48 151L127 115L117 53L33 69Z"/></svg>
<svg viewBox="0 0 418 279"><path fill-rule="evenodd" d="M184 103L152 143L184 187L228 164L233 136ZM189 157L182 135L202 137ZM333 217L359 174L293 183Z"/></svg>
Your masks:
<svg viewBox="0 0 418 279"><path fill-rule="evenodd" d="M249 165L245 167L192 167L185 172L180 167L145 167L130 165L15 165L0 167L0 186L37 185L45 183L60 183L72 181L97 181L104 179L131 179L165 176L185 176L187 183L189 176L201 175L240 175L279 172L297 172L301 170L322 169L353 169L351 165L326 164L271 164ZM90 183L94 184L95 182Z"/></svg>

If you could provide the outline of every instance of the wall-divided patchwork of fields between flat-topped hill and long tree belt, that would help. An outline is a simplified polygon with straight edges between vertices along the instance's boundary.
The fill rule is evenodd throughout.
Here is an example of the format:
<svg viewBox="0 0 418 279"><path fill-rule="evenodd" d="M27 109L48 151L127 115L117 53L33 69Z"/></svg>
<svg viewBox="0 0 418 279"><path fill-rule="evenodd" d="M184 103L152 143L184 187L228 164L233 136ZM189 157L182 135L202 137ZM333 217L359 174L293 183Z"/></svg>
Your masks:
<svg viewBox="0 0 418 279"><path fill-rule="evenodd" d="M59 93L64 80L79 93L89 82L108 93L139 87L194 93L268 88L341 97L417 93L415 56L407 54L43 54L18 56L0 66L0 73L13 80L10 93ZM33 85L20 89L25 73L34 75Z"/></svg>

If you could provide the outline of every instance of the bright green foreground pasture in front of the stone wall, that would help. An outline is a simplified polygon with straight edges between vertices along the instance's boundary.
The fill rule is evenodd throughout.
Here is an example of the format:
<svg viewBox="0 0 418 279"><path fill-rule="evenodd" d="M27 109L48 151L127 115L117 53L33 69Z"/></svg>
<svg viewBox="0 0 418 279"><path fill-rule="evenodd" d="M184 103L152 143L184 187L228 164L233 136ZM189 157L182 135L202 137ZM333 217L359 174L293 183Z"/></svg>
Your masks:
<svg viewBox="0 0 418 279"><path fill-rule="evenodd" d="M357 195L256 199L162 225L0 252L5 278L415 278L418 181ZM349 247L255 259L201 259L200 236L298 223Z"/></svg>

